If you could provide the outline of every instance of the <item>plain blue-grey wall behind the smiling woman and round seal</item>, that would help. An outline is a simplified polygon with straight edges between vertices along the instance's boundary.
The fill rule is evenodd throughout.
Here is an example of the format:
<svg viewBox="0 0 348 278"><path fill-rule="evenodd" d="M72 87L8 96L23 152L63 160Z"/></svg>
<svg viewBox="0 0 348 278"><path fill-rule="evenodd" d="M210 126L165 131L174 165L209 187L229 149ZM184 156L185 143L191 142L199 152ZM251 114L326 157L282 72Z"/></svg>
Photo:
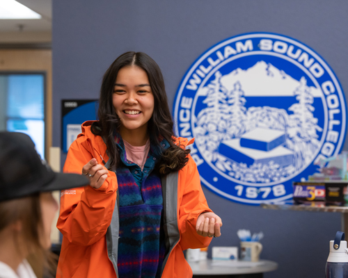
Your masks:
<svg viewBox="0 0 348 278"><path fill-rule="evenodd" d="M347 11L345 0L53 1L53 145L61 145L61 99L98 97L105 70L129 50L157 61L172 107L182 76L213 44L240 33L280 33L321 55L347 96ZM279 263L265 278L324 277L339 213L269 211L203 189L223 219L223 235L211 246L239 245L238 229L263 231L261 258Z"/></svg>

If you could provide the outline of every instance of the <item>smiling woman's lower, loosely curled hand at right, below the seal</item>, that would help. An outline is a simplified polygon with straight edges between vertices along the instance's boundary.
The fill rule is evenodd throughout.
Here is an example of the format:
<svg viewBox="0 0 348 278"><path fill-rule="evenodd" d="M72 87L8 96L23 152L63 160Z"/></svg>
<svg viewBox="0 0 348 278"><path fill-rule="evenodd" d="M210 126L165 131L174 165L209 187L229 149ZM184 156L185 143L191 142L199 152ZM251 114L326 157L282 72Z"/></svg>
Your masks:
<svg viewBox="0 0 348 278"><path fill-rule="evenodd" d="M222 226L221 218L215 213L200 213L196 223L196 231L200 236L212 238L221 236L220 227Z"/></svg>

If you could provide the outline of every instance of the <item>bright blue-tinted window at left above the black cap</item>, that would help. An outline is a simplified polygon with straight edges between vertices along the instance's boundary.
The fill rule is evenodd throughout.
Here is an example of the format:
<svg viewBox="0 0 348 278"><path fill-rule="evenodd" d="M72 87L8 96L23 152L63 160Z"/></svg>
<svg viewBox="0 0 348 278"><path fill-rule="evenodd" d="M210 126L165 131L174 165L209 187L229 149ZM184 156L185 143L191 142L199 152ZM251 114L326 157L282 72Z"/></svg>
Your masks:
<svg viewBox="0 0 348 278"><path fill-rule="evenodd" d="M45 157L45 74L0 74L0 130L28 134Z"/></svg>

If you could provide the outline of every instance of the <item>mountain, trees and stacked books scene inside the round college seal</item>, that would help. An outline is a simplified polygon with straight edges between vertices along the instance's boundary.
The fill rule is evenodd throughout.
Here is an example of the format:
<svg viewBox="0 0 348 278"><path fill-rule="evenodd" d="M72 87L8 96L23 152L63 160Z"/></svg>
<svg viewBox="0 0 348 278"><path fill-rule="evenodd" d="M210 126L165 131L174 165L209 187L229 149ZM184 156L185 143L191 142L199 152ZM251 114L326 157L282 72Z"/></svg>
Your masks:
<svg viewBox="0 0 348 278"><path fill-rule="evenodd" d="M322 91L308 86L305 76L297 81L259 61L248 70L214 72L199 93L205 106L194 118L196 145L205 161L226 177L281 181L313 160L322 132L314 101ZM274 107L289 96L287 108ZM267 97L267 105L246 106L258 97Z"/></svg>

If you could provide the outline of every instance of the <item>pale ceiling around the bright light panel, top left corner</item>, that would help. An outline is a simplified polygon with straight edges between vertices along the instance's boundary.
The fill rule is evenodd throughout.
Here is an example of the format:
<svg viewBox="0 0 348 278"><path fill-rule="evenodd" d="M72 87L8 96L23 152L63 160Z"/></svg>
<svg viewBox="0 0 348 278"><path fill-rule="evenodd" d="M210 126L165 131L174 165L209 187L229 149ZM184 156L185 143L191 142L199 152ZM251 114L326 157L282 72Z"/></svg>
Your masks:
<svg viewBox="0 0 348 278"><path fill-rule="evenodd" d="M42 15L42 19L0 19L0 32L50 32L52 29L52 0L16 0ZM23 26L20 31L19 26Z"/></svg>

